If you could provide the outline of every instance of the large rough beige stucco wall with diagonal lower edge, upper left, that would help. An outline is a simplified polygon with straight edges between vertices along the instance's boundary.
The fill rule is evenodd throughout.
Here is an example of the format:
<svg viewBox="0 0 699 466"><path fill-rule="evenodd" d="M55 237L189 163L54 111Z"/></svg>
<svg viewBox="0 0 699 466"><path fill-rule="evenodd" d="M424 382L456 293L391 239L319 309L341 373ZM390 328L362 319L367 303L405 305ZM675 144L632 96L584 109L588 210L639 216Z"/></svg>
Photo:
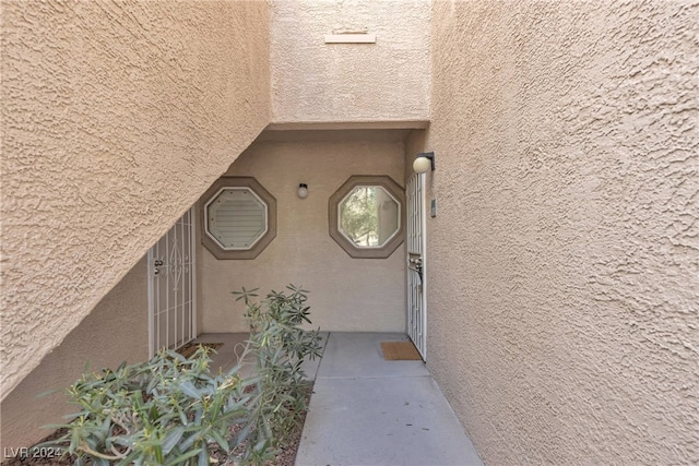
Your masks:
<svg viewBox="0 0 699 466"><path fill-rule="evenodd" d="M2 396L269 122L265 1L2 1Z"/></svg>

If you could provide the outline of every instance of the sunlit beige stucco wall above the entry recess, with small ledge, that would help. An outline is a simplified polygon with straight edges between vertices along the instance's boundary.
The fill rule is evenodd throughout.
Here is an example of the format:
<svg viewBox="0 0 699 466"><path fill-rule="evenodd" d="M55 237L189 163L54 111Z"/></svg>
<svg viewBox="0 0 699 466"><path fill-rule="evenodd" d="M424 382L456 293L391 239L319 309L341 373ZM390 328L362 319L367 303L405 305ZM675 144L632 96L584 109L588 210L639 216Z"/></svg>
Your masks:
<svg viewBox="0 0 699 466"><path fill-rule="evenodd" d="M429 0L272 0L273 121L429 118ZM325 44L366 31L376 44Z"/></svg>

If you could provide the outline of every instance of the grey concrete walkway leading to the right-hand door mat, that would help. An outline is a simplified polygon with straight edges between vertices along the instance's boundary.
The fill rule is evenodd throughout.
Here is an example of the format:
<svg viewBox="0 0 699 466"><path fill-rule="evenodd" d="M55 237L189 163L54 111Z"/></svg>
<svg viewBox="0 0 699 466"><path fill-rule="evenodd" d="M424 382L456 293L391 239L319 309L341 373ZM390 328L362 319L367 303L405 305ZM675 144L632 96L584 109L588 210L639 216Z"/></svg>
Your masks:
<svg viewBox="0 0 699 466"><path fill-rule="evenodd" d="M297 466L482 465L422 361L387 361L403 334L330 333ZM315 372L317 370L317 372Z"/></svg>

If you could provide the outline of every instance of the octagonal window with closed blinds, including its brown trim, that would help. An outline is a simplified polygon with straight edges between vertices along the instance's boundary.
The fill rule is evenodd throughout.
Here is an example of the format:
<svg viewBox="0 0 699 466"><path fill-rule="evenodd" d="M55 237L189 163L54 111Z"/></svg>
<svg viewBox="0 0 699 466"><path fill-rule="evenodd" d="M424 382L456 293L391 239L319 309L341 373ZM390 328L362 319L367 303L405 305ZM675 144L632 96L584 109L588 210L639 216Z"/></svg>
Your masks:
<svg viewBox="0 0 699 466"><path fill-rule="evenodd" d="M217 259L254 259L276 235L276 201L254 178L221 178L203 202L202 243Z"/></svg>

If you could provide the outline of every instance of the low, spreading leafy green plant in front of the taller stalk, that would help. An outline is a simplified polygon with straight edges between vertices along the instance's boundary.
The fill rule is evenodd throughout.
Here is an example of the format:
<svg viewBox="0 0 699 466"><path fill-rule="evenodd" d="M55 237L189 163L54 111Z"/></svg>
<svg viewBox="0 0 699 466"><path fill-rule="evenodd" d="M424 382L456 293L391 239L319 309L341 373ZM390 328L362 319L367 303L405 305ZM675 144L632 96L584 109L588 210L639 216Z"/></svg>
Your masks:
<svg viewBox="0 0 699 466"><path fill-rule="evenodd" d="M93 465L208 465L210 449L245 442L229 427L248 421L259 396L246 390L239 368L212 375L206 348L191 359L162 350L151 360L86 373L68 390L81 410L51 441Z"/></svg>

